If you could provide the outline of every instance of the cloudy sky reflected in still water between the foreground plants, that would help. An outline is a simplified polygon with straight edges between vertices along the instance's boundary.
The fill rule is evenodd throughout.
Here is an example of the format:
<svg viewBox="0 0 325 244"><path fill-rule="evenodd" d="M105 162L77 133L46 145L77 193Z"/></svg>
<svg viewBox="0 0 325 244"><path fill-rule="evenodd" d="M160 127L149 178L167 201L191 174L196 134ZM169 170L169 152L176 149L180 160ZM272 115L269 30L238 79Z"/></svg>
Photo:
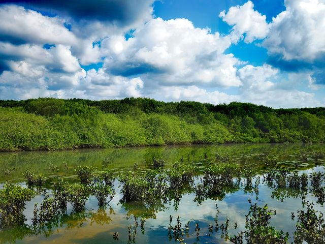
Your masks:
<svg viewBox="0 0 325 244"><path fill-rule="evenodd" d="M202 153L202 151L200 151L200 153ZM278 153L281 153L281 151ZM178 156L179 155L177 155L177 157ZM324 171L324 168L323 166L318 166L312 169L300 171L300 174L302 172L310 174L314 171ZM25 184L22 185L25 187ZM0 184L0 188L1 187L3 187L3 184ZM110 206L114 209L115 215L110 214L109 208L106 209L107 215L112 220L109 224L100 225L91 223L89 219L86 219L80 228L67 228L67 224L64 224L61 228L54 228L53 234L48 238L46 238L43 234L36 236L31 235L26 236L22 240L17 240L17 243L125 243L127 241L127 226L133 225L133 219L126 219L127 212L123 206L119 204L119 200L122 198L122 195L119 193L117 181L115 181L115 189L118 190L115 197L110 202ZM259 185L258 196L259 200L257 201L257 204L259 206L263 206L265 203L268 203L270 209L276 210L277 214L276 216L272 217L270 221L271 225L276 226L278 230L289 232L291 236L290 241L293 241L292 233L295 231L297 219L295 219L295 221L291 221L291 212L295 212L295 215L297 216L297 210L302 209L301 199L284 198L283 202L281 202L280 200L271 198L272 191L272 189L262 184L261 177L261 185ZM215 204L217 204L220 211L218 215L219 226L225 222L226 218L230 219L229 234L234 235L245 228L245 215L249 210L248 198L251 198L253 203L256 201L254 194L244 194L243 191L238 191L234 194L226 194L223 201L212 201L208 199L198 206L197 203L193 202L194 194L184 195L179 203L178 210L174 210L172 205L168 205L168 208L164 211L157 212L156 219L146 220L144 235L141 233L140 219L138 219L139 227L137 229L137 243L171 243L167 236L170 215L173 216L172 225L176 225L177 216L181 217L182 227L187 221L190 221L189 237L184 237L186 243L193 243L196 241L194 234L194 224L196 222L198 222L201 227L201 243L224 243L220 240L220 230L218 234L207 236L209 233L208 224L214 224L214 219L216 216ZM32 201L27 202L27 209L24 211L24 214L28 219L28 224L32 218L34 203L41 202L42 199L43 197L38 195L32 199ZM306 200L316 202L316 198L311 196L311 194L307 195ZM68 212L72 210L71 208L72 206L69 205ZM90 197L87 200L86 208L93 209L93 211L98 209L98 203L95 197ZM315 209L322 212L325 211L325 208L319 204L315 205ZM235 221L238 224L237 230L234 229ZM120 241L116 242L113 240L112 235L114 232L119 232Z"/></svg>

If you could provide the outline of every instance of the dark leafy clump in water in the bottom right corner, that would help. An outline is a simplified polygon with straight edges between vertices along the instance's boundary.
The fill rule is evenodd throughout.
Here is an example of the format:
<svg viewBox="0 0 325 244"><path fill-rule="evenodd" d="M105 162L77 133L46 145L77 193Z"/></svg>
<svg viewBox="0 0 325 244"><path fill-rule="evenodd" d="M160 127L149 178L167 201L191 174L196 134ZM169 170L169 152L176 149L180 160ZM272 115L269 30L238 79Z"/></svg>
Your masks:
<svg viewBox="0 0 325 244"><path fill-rule="evenodd" d="M306 211L298 211L298 222L294 233L295 243L325 243L325 220L323 214L314 209L314 204L307 202Z"/></svg>

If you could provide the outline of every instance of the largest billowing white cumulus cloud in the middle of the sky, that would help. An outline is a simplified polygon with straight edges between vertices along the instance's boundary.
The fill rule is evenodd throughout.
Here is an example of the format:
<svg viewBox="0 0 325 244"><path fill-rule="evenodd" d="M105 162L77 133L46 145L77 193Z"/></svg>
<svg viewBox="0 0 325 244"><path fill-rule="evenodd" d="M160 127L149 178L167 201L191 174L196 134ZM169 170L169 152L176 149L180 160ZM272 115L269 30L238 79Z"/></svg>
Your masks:
<svg viewBox="0 0 325 244"><path fill-rule="evenodd" d="M149 74L164 84L210 83L239 86L239 60L224 54L229 36L196 28L187 19L152 19L125 40L113 36L102 42L108 56L105 67L115 75Z"/></svg>

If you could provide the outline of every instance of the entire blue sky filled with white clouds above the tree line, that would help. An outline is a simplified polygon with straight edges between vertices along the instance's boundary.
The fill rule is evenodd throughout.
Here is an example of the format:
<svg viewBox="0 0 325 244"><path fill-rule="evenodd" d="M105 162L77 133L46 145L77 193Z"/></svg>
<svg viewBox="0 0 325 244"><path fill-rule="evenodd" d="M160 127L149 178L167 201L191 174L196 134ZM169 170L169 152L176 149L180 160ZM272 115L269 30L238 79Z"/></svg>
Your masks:
<svg viewBox="0 0 325 244"><path fill-rule="evenodd" d="M0 99L325 106L325 0L0 0Z"/></svg>

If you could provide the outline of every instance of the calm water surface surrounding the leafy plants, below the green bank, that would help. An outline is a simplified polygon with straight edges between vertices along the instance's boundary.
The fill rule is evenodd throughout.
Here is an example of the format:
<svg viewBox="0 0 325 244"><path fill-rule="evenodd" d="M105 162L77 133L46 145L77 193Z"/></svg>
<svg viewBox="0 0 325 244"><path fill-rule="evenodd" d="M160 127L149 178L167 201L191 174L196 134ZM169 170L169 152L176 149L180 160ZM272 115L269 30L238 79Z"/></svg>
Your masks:
<svg viewBox="0 0 325 244"><path fill-rule="evenodd" d="M258 154L276 156L277 166L298 170L299 173L308 174L315 171L324 171L324 160L315 161L311 157L307 161L300 158L300 150L325 151L322 144L240 144L240 145L196 145L196 146L168 146L168 147L141 147L141 148L118 148L118 149L78 149L71 151L39 151L39 152L17 152L0 154L0 188L5 181L12 181L25 186L22 172L29 169L38 170L45 175L47 191L53 189L53 181L57 177L63 177L70 181L78 181L74 169L80 164L91 164L96 170L110 169L116 176L120 173L134 170L134 164L139 164L137 171L142 172L150 168L149 162L152 158L162 158L167 163L165 169L169 170L172 163L180 161L195 162L203 167L205 155L214 159L217 153L229 154L232 162L244 164L249 162L254 165L257 175L262 175L274 165L266 164L258 159ZM103 160L105 159L105 160ZM104 163L105 162L105 163ZM262 181L262 180L261 180ZM196 179L196 183L199 179ZM136 243L171 243L169 240L168 226L170 215L173 216L172 225L176 225L177 216L181 217L182 227L189 221L188 235L184 235L186 243L226 243L220 238L221 231L209 233L209 224L214 224L217 214L216 204L219 209L219 225L226 219L230 220L229 234L234 235L245 229L245 215L249 210L248 199L257 202L258 205L268 204L270 209L276 210L270 223L278 230L289 232L291 239L295 231L296 220L291 221L291 212L303 209L300 197L285 197L283 200L272 197L274 190L261 184L258 187L258 200L254 192L244 192L243 187L235 192L226 193L221 200L207 199L198 205L194 202L195 193L184 194L175 209L174 202L165 204L159 208L147 209L140 203L121 204L122 198L119 190L119 182L115 180L116 195L106 209L99 209L95 197L90 197L86 202L86 210L79 214L67 216L57 224L45 228L36 233L32 228L11 228L0 230L0 243L126 243L128 241L128 226L134 230L135 219L138 217ZM230 191L231 192L231 191ZM27 202L24 214L27 218L27 226L31 224L34 203L42 202L43 196L37 195ZM317 198L308 193L306 200L316 203ZM315 209L325 212L325 207L315 205ZM72 206L68 205L68 212ZM141 231L140 218L144 218L144 233ZM235 229L235 221L238 228ZM198 223L200 239L197 240L194 233L195 224ZM118 232L118 240L113 239L114 232ZM210 236L208 235L210 234ZM177 241L177 243L179 243Z"/></svg>

